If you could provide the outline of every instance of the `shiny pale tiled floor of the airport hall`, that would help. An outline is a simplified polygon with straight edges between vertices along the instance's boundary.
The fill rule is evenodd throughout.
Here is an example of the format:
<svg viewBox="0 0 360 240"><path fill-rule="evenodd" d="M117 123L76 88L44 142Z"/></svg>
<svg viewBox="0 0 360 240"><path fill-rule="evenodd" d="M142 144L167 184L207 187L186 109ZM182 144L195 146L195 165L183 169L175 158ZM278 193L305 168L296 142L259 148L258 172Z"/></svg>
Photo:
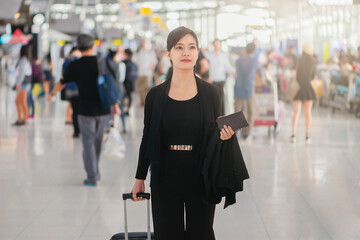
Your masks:
<svg viewBox="0 0 360 240"><path fill-rule="evenodd" d="M0 87L0 239L105 240L123 231L121 193L134 181L142 110L128 118L126 158L103 158L92 188L82 185L82 146L64 124L66 103L37 101L35 119L11 127L13 102ZM217 239L360 239L360 119L316 108L312 144L302 118L294 145L287 109L276 139L258 127L252 142L240 141L251 178L236 205L217 207ZM128 205L131 231L145 230L145 206Z"/></svg>

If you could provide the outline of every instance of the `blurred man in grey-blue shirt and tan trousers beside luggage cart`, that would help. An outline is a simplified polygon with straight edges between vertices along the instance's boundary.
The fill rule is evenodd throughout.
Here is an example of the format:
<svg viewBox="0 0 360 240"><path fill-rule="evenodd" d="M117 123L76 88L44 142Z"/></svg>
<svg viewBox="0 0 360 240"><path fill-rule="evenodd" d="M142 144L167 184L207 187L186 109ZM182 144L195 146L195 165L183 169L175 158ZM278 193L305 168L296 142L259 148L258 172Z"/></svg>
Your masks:
<svg viewBox="0 0 360 240"><path fill-rule="evenodd" d="M251 129L253 124L253 93L255 86L255 75L259 74L264 81L262 66L254 57L256 46L254 43L246 45L246 56L241 56L236 61L236 80L234 88L234 110L235 112L244 111L249 122L249 127L243 130L243 138L251 139Z"/></svg>

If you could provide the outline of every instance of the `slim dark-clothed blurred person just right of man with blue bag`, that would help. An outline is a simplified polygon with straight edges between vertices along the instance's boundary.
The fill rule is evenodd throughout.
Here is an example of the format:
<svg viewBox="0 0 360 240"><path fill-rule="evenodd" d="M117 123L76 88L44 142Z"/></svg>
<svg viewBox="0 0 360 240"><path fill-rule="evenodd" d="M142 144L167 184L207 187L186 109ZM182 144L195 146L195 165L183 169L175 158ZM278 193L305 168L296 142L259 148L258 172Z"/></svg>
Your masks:
<svg viewBox="0 0 360 240"><path fill-rule="evenodd" d="M126 65L124 86L126 91L126 98L128 99L126 115L129 115L129 109L131 106L131 93L134 91L134 82L138 78L138 67L131 60L132 55L133 52L129 48L125 49L125 59L123 60L123 63Z"/></svg>

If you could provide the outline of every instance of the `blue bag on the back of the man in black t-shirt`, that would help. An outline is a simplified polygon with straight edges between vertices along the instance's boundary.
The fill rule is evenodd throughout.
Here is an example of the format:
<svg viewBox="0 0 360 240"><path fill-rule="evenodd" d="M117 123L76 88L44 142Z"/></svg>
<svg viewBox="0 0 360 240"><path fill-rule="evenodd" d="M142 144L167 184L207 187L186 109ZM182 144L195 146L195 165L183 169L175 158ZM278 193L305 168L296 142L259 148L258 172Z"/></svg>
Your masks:
<svg viewBox="0 0 360 240"><path fill-rule="evenodd" d="M115 74L106 58L98 62L99 76L97 78L97 89L101 107L110 110L111 106L120 103L120 94L115 84Z"/></svg>

